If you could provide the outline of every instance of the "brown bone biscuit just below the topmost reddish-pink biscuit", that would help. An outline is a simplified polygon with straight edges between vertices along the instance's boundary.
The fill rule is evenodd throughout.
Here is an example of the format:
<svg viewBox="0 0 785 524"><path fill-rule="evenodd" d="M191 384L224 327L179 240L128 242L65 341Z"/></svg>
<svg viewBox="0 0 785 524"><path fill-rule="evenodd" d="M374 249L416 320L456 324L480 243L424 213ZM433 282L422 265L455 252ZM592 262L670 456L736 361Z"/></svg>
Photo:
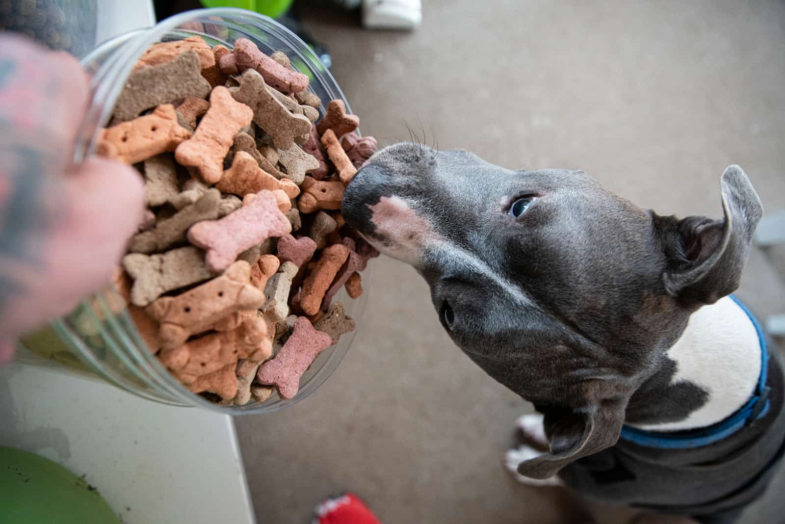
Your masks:
<svg viewBox="0 0 785 524"><path fill-rule="evenodd" d="M265 89L264 78L253 69L246 70L240 77L240 86L231 91L235 100L254 110L254 122L272 136L272 143L278 149L288 149L295 137L311 129L311 121L304 115L290 113Z"/></svg>

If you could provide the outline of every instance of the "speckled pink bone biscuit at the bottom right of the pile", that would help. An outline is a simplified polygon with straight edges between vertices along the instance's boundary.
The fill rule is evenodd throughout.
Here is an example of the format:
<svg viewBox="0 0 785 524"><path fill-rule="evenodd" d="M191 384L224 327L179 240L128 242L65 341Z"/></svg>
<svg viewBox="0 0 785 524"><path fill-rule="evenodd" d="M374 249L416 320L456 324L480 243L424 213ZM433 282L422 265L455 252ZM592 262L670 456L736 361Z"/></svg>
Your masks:
<svg viewBox="0 0 785 524"><path fill-rule="evenodd" d="M300 389L300 377L316 355L330 347L330 335L316 331L308 318L294 322L294 332L275 358L259 367L259 384L275 386L281 398L293 398Z"/></svg>

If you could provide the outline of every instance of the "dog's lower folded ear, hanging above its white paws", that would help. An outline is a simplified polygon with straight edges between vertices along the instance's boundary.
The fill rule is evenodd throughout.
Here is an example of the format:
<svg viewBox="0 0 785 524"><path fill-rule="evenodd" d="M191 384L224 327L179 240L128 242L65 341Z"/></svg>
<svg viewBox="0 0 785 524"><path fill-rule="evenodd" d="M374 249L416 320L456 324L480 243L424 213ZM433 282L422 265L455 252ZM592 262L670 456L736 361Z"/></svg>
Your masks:
<svg viewBox="0 0 785 524"><path fill-rule="evenodd" d="M550 453L518 464L518 473L531 479L548 479L581 457L593 455L619 440L628 397L614 398L599 407L546 409L543 424Z"/></svg>

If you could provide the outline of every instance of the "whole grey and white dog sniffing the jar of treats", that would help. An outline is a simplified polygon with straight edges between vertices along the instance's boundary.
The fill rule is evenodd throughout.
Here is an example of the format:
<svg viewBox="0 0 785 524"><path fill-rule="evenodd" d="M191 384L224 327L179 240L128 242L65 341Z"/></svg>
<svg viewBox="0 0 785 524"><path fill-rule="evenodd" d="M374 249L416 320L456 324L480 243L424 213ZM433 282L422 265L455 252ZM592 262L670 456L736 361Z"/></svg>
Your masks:
<svg viewBox="0 0 785 524"><path fill-rule="evenodd" d="M724 218L660 216L582 171L402 143L345 188L346 223L428 283L451 339L535 406L520 479L734 522L785 451L783 372L731 296L763 209L739 166Z"/></svg>

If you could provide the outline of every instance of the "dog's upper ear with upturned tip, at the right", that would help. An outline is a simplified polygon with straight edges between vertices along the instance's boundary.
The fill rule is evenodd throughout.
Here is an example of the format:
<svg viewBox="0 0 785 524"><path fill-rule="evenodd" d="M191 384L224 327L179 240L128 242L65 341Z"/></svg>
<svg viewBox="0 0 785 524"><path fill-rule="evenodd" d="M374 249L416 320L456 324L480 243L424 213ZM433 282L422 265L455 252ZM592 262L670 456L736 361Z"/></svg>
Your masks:
<svg viewBox="0 0 785 524"><path fill-rule="evenodd" d="M666 246L666 292L685 304L713 304L739 287L750 242L763 215L761 199L739 166L729 166L720 181L725 218L687 217L675 224Z"/></svg>

